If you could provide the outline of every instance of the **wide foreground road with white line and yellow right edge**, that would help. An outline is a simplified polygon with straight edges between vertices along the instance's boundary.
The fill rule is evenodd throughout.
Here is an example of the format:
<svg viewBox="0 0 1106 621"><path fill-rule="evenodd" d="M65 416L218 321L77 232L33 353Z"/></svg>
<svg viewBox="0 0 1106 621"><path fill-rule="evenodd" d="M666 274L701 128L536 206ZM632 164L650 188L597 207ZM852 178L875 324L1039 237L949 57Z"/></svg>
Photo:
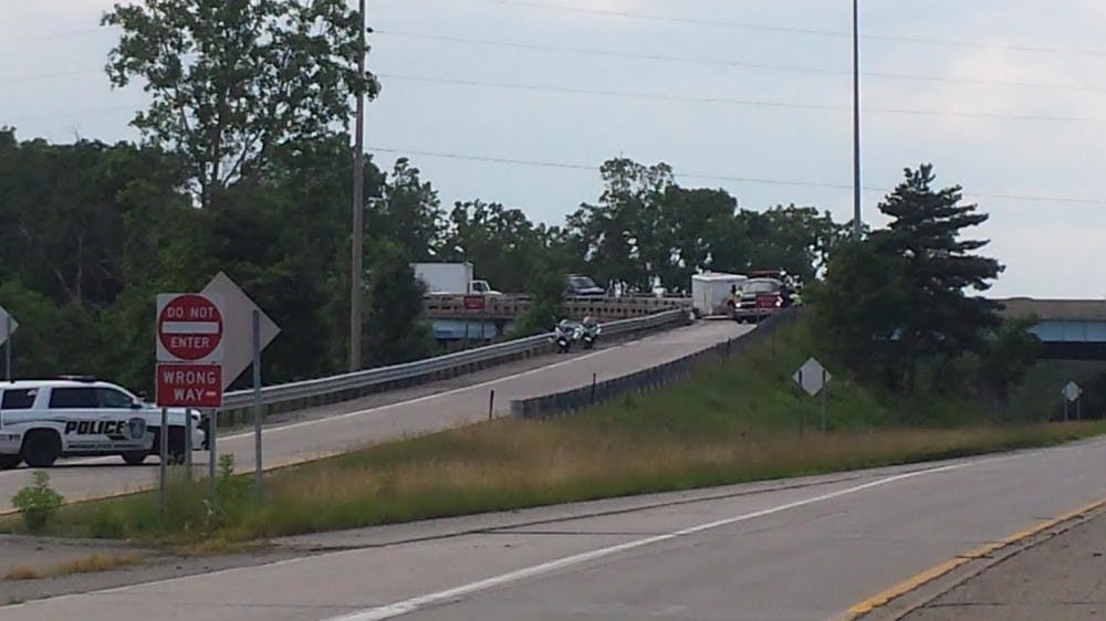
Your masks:
<svg viewBox="0 0 1106 621"><path fill-rule="evenodd" d="M341 551L0 608L0 618L830 619L1106 496L1104 465L1097 440L309 537L298 543Z"/></svg>

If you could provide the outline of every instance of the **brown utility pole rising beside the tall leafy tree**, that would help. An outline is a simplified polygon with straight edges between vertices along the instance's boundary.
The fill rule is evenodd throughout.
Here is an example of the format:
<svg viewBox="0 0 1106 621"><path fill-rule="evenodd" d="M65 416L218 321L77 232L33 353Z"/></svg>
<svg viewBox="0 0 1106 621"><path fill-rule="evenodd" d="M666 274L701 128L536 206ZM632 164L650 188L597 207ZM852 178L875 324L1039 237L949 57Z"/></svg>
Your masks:
<svg viewBox="0 0 1106 621"><path fill-rule="evenodd" d="M357 74L365 75L365 0L358 6L361 32L357 41L362 53L357 55ZM364 295L365 243L365 95L358 92L357 120L354 129L353 154L353 255L349 265L349 370L361 369L361 302Z"/></svg>

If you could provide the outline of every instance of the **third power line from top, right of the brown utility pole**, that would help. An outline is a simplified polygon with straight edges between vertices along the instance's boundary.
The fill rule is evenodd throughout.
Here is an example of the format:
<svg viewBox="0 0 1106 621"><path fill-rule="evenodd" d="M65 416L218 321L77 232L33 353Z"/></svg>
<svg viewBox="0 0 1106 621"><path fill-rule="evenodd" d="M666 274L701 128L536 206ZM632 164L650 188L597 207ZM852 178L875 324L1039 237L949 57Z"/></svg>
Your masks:
<svg viewBox="0 0 1106 621"><path fill-rule="evenodd" d="M411 82L425 82L430 84L448 84L453 86L476 86L482 88L507 88L515 91L538 91L546 93L562 93L568 95L598 95L609 97L628 97L650 101L685 102L698 104L721 104L749 107L771 107L771 108L793 108L793 109L822 109L842 110L852 109L848 105L835 104L804 104L796 102L774 102L769 99L740 99L734 97L695 97L688 95L669 95L665 93L645 93L633 91L609 91L602 88L574 88L565 86L546 86L540 84L524 84L518 82L483 82L478 80L461 80L452 77L431 77L418 75L404 75L395 73L380 73L378 77L384 80L406 80ZM1084 117L1084 116L1054 116L1054 115L1016 115L987 112L961 112L961 110L937 110L937 109L914 109L914 108L864 108L868 114L895 114L916 116L956 116L969 118L993 118L1004 120L1041 120L1055 123L1106 123L1106 118Z"/></svg>

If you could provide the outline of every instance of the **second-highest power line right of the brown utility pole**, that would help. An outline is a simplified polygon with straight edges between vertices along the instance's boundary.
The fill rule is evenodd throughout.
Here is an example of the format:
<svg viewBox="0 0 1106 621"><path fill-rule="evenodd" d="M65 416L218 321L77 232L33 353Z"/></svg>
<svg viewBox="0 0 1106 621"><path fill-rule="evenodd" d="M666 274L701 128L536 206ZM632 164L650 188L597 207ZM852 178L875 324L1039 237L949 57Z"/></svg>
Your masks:
<svg viewBox="0 0 1106 621"><path fill-rule="evenodd" d="M562 46L562 45L544 45L540 43L520 43L514 41L501 41L494 39L471 39L466 36L452 36L444 34L427 34L420 32L409 32L399 30L377 30L376 34L390 35L390 36L401 36L408 39L422 39L427 41L442 41L449 43L467 43L476 45L493 45L500 48L510 48L515 50L532 50L532 51L543 51L543 52L557 52L557 53L571 53L571 54L589 54L596 56L609 56L619 59L633 59L640 61L659 61L659 62L672 62L672 63L686 63L702 66L722 66L722 67L740 67L740 69L753 69L763 71L779 71L779 72L794 72L794 73L813 73L823 75L842 75L852 76L853 72L824 69L824 67L813 67L813 66L802 66L802 65L780 65L770 63L752 63L747 61L731 61L731 60L717 60L717 59L702 59L695 56L672 56L666 54L645 54L637 52L619 52L613 50L597 50L593 48L574 48L574 46ZM865 77L875 77L881 80L905 80L914 82L939 82L947 84L975 84L981 86L1015 86L1023 88L1050 88L1050 90L1062 90L1062 91L1077 91L1085 93L1106 93L1106 87L1099 86L1086 86L1078 84L1055 84L1046 82L1020 82L1020 81L1005 81L1005 80L973 80L969 77L946 77L938 75L915 75L915 74L904 74L904 73L887 73L887 72L876 72L868 71L862 72L860 75Z"/></svg>

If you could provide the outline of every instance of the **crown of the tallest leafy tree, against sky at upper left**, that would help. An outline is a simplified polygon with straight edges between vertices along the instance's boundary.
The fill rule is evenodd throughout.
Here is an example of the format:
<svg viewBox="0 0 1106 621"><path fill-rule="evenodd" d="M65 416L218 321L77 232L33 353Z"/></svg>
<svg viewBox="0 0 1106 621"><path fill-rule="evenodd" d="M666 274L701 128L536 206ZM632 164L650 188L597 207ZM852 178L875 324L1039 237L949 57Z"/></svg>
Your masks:
<svg viewBox="0 0 1106 621"><path fill-rule="evenodd" d="M204 207L276 149L334 134L349 95L379 91L356 70L368 48L343 0L146 0L102 23L123 29L112 85L139 77L153 96L132 125L185 158Z"/></svg>

